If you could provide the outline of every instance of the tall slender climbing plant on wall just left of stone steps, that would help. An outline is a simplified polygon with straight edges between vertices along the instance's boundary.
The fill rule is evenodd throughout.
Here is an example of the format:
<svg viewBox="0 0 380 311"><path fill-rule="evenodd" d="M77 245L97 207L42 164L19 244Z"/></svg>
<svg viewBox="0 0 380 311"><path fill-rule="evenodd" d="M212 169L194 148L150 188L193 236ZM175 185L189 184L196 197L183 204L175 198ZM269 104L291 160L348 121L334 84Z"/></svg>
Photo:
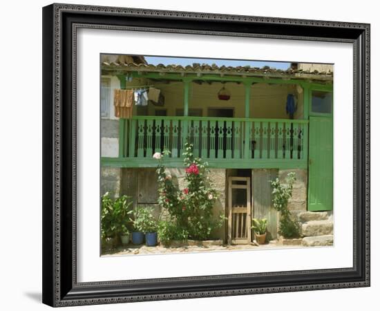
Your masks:
<svg viewBox="0 0 380 311"><path fill-rule="evenodd" d="M273 207L276 211L280 212L280 227L278 232L284 238L296 238L299 236L300 226L298 221L292 217L287 204L289 198L292 197L293 185L296 181L296 174L294 172L288 173L285 182L280 182L278 178L271 181L272 194L273 194Z"/></svg>

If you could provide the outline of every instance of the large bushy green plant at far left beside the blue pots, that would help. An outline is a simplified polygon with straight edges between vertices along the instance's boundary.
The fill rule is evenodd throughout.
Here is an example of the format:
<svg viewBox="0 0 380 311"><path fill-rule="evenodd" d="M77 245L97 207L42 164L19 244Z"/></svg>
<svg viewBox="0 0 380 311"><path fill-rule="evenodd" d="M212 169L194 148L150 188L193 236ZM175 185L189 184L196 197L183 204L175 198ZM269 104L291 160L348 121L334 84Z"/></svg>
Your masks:
<svg viewBox="0 0 380 311"><path fill-rule="evenodd" d="M131 205L129 196L111 198L108 192L102 196L102 238L114 238L117 234L129 232Z"/></svg>

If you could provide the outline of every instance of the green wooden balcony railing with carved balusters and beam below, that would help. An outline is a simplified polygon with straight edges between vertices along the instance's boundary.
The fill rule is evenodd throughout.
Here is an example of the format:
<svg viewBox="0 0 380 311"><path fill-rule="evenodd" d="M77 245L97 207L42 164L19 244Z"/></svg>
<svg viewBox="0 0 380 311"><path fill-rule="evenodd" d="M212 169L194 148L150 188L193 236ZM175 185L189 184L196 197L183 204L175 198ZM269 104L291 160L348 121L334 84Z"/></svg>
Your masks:
<svg viewBox="0 0 380 311"><path fill-rule="evenodd" d="M218 168L307 167L307 120L238 117L135 116L120 119L120 156L104 166L155 167L153 153L171 151L167 167L182 167L184 142Z"/></svg>

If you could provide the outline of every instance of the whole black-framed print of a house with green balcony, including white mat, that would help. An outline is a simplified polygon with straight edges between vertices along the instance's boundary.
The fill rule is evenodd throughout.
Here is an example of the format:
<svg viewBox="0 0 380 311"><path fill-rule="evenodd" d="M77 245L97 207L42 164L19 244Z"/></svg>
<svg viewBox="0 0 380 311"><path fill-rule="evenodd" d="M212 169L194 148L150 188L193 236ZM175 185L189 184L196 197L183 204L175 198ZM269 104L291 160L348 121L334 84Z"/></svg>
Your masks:
<svg viewBox="0 0 380 311"><path fill-rule="evenodd" d="M370 285L370 25L43 9L43 301Z"/></svg>

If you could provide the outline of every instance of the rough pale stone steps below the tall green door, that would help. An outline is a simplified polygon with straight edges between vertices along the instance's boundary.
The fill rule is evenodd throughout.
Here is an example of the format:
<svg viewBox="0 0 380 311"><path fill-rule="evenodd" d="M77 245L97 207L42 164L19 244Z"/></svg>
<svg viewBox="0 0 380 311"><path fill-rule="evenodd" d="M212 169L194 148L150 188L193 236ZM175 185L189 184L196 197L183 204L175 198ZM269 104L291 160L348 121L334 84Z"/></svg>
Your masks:
<svg viewBox="0 0 380 311"><path fill-rule="evenodd" d="M298 214L301 222L301 244L303 246L333 245L333 220L330 211L302 211Z"/></svg>

